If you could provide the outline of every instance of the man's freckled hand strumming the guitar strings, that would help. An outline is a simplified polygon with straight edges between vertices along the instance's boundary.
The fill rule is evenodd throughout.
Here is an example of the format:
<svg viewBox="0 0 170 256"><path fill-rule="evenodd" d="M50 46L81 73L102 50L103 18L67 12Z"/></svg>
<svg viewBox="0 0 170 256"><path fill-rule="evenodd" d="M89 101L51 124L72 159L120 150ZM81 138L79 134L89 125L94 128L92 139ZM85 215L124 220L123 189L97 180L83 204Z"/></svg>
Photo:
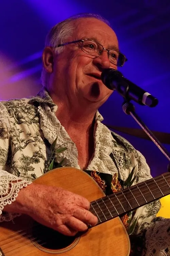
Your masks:
<svg viewBox="0 0 170 256"><path fill-rule="evenodd" d="M35 221L58 232L74 236L96 225L97 217L89 212L89 201L60 187L31 184L20 190L16 201L5 211L30 215Z"/></svg>

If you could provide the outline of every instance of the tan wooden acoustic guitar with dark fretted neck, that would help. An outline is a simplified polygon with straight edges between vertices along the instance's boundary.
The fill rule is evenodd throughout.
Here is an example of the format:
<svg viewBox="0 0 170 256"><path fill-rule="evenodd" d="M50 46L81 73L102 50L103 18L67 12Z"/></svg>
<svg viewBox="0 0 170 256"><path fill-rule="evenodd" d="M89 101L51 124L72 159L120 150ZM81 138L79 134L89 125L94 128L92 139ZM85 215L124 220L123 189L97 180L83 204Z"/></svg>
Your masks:
<svg viewBox="0 0 170 256"><path fill-rule="evenodd" d="M63 187L86 197L98 224L87 232L68 237L21 215L14 219L15 223L1 223L0 255L128 256L130 241L119 216L170 194L170 173L109 196L87 173L71 167L49 171L34 182Z"/></svg>

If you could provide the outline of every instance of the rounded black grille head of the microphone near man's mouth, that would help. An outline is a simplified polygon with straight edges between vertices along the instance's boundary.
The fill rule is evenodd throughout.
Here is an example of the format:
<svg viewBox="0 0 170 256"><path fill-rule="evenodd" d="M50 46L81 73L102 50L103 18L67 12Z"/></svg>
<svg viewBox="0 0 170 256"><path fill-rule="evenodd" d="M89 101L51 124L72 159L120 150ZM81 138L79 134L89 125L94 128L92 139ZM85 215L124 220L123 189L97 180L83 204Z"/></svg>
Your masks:
<svg viewBox="0 0 170 256"><path fill-rule="evenodd" d="M110 90L114 90L111 86L111 81L118 81L123 77L122 73L116 69L104 69L101 73L103 84Z"/></svg>

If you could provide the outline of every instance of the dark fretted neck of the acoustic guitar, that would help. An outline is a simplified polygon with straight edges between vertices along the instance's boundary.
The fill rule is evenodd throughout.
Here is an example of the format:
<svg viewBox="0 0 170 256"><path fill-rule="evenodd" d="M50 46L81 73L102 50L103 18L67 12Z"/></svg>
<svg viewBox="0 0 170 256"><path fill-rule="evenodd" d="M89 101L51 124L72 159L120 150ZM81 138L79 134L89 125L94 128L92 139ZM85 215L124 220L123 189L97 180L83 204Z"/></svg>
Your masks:
<svg viewBox="0 0 170 256"><path fill-rule="evenodd" d="M103 223L169 194L170 173L167 172L91 202L90 211Z"/></svg>

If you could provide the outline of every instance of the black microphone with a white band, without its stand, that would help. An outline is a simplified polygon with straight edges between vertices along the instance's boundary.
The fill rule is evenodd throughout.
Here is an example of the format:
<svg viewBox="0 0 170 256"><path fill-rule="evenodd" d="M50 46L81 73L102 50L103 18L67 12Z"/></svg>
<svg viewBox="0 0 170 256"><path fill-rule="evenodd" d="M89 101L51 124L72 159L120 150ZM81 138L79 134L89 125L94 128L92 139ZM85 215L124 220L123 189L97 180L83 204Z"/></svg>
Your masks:
<svg viewBox="0 0 170 256"><path fill-rule="evenodd" d="M116 69L104 69L101 73L101 80L108 89L117 90L127 100L134 100L140 105L150 107L158 104L158 99L123 77L122 73Z"/></svg>

